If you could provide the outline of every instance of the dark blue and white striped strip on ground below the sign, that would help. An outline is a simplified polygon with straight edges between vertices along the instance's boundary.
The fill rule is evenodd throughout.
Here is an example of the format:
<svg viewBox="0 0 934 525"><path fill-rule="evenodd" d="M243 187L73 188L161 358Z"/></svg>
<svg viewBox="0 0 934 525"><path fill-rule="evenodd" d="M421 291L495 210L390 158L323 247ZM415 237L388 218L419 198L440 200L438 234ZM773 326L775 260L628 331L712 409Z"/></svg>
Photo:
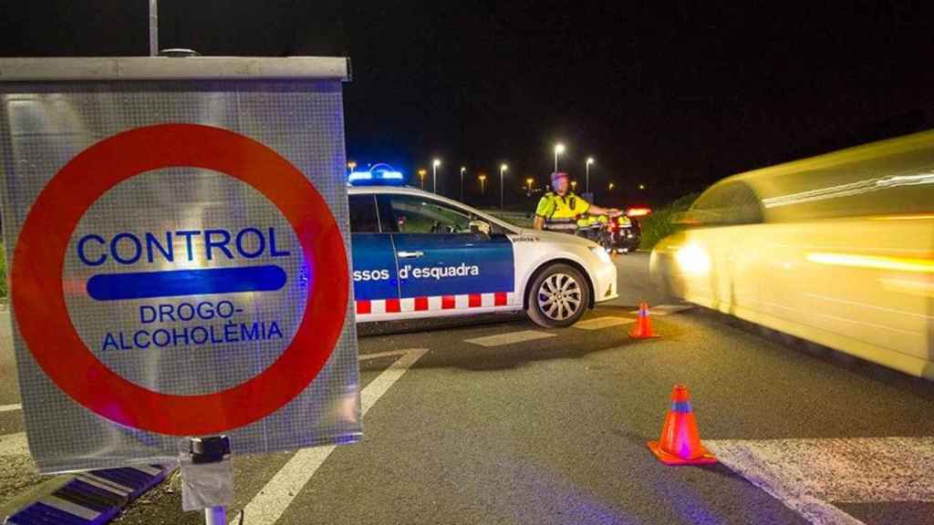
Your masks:
<svg viewBox="0 0 934 525"><path fill-rule="evenodd" d="M175 470L168 465L137 465L76 475L57 490L23 506L7 518L9 525L100 525Z"/></svg>

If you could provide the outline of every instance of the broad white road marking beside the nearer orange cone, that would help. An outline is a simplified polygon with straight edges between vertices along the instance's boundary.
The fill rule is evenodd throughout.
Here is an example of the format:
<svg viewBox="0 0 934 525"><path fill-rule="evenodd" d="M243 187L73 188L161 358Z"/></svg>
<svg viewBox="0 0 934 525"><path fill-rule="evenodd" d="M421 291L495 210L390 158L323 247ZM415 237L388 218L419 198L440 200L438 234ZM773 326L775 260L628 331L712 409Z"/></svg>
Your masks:
<svg viewBox="0 0 934 525"><path fill-rule="evenodd" d="M814 524L862 523L830 502L934 502L934 437L704 444L719 461Z"/></svg>

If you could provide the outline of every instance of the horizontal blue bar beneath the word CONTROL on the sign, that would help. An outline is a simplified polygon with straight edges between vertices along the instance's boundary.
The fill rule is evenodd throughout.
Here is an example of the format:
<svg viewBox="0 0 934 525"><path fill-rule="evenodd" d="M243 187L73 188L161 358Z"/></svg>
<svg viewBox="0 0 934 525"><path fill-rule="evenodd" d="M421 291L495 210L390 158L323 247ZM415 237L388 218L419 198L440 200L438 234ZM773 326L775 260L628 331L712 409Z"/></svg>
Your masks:
<svg viewBox="0 0 934 525"><path fill-rule="evenodd" d="M270 264L244 268L171 270L133 274L101 274L88 280L88 295L98 301L179 297L242 291L276 291L286 285L286 272Z"/></svg>

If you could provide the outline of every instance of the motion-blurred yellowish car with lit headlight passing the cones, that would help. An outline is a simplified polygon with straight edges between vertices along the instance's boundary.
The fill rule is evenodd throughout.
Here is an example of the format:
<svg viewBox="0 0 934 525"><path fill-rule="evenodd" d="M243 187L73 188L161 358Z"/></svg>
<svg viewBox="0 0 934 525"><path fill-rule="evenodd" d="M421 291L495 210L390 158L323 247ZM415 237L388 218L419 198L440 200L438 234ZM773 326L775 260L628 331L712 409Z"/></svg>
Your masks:
<svg viewBox="0 0 934 525"><path fill-rule="evenodd" d="M678 219L664 290L934 379L934 131L726 178Z"/></svg>

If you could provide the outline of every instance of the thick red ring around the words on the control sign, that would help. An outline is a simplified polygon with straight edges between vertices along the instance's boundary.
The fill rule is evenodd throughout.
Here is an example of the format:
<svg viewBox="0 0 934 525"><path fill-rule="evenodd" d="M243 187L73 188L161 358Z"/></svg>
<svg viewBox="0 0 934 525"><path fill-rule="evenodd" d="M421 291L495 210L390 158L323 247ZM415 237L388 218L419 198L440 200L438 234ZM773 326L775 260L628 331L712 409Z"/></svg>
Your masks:
<svg viewBox="0 0 934 525"><path fill-rule="evenodd" d="M173 166L219 171L261 192L289 220L312 277L304 317L289 347L259 375L214 393L166 394L114 373L81 340L64 301L65 251L85 212L120 182ZM327 277L315 278L325 268ZM311 182L273 149L244 135L197 124L130 130L94 144L65 164L30 209L10 274L20 333L51 380L106 419L171 435L227 432L288 404L331 357L347 315L344 240Z"/></svg>

